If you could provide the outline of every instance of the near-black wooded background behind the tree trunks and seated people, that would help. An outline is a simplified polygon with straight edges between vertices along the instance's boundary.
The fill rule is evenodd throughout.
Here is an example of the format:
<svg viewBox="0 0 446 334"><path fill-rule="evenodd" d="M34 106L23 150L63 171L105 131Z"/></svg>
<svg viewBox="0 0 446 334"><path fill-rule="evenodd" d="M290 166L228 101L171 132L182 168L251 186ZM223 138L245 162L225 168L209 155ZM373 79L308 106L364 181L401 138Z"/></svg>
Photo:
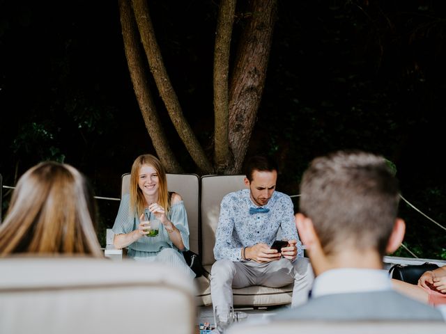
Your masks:
<svg viewBox="0 0 446 334"><path fill-rule="evenodd" d="M300 175L317 155L360 148L392 161L404 198L446 225L445 2L278 1L248 154L277 159L279 190L298 193ZM211 156L218 1L149 7L180 104ZM176 157L186 173L200 173L151 86ZM118 198L134 158L155 154L128 74L118 1L0 0L0 110L0 173L8 186L54 159L82 170L97 196ZM9 195L3 189L3 214ZM98 202L104 244L118 202ZM445 230L404 203L400 214L411 250L446 259Z"/></svg>

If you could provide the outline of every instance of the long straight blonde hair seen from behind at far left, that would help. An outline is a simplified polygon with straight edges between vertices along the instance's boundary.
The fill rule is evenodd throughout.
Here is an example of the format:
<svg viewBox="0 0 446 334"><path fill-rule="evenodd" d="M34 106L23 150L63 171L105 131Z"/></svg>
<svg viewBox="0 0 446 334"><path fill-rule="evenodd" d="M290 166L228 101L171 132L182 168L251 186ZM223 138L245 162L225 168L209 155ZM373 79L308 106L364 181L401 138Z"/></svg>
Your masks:
<svg viewBox="0 0 446 334"><path fill-rule="evenodd" d="M46 161L20 177L0 225L0 256L12 253L103 257L96 237L96 204L85 177Z"/></svg>

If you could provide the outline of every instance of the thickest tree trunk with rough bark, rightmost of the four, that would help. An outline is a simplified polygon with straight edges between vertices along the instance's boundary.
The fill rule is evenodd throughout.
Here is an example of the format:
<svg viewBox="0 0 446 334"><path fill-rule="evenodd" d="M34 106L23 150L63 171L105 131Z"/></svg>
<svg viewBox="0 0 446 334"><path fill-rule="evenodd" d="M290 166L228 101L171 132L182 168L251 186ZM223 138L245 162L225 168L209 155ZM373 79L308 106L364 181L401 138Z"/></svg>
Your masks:
<svg viewBox="0 0 446 334"><path fill-rule="evenodd" d="M265 86L276 20L277 0L253 0L252 18L243 31L229 90L229 143L233 173L240 172Z"/></svg>

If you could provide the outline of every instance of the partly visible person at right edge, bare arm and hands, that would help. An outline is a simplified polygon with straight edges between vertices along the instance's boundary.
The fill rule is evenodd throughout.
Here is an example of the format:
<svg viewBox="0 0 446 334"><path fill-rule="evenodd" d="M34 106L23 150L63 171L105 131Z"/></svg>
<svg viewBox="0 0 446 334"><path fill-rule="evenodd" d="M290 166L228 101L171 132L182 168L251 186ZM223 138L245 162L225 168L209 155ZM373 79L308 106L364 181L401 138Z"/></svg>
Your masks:
<svg viewBox="0 0 446 334"><path fill-rule="evenodd" d="M425 271L417 285L392 279L397 291L430 305L446 305L446 267Z"/></svg>

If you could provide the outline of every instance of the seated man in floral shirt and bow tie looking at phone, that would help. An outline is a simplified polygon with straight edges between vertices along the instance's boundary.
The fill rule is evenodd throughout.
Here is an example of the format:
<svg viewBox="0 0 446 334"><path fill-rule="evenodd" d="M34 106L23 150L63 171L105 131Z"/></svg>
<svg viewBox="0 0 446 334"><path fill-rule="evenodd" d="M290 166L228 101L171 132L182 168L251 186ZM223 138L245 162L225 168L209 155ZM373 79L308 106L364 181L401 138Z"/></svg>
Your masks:
<svg viewBox="0 0 446 334"><path fill-rule="evenodd" d="M263 285L283 287L294 283L292 306L305 303L314 274L295 228L293 202L275 191L277 164L254 156L245 165L248 189L224 196L215 234L210 292L217 312L232 305L232 288ZM288 245L270 246L282 230Z"/></svg>

